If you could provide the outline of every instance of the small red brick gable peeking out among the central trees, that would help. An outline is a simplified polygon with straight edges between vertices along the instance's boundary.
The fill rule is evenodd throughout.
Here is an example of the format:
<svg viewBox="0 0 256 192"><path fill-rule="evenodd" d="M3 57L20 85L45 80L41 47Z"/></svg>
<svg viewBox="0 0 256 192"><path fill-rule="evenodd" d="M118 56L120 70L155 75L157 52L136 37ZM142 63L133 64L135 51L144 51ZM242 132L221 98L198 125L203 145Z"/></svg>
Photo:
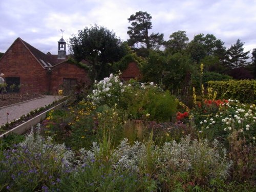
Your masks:
<svg viewBox="0 0 256 192"><path fill-rule="evenodd" d="M130 80L130 79L141 79L141 73L139 67L136 62L131 62L122 72L121 79L123 80Z"/></svg>

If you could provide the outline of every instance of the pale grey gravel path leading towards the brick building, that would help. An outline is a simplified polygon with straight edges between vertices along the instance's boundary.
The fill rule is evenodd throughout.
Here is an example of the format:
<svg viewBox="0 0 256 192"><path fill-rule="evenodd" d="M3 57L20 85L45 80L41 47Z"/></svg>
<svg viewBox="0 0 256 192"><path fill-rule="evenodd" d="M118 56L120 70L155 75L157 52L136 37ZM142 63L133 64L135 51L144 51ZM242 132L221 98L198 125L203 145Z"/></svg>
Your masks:
<svg viewBox="0 0 256 192"><path fill-rule="evenodd" d="M12 106L8 106L5 108L0 109L0 126L7 122L7 113L8 115L8 122L18 119L22 115L27 115L34 109L40 108L41 106L45 106L51 104L53 101L62 98L61 96L53 96L53 95L46 95L45 97L34 99L31 101L25 101L24 103L15 104Z"/></svg>

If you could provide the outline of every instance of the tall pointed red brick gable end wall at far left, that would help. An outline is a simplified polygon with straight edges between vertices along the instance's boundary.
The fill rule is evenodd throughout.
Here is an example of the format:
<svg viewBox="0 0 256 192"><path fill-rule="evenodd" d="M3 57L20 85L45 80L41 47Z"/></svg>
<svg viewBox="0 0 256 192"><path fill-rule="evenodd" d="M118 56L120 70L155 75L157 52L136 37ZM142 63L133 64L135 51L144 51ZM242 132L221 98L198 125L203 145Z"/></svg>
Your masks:
<svg viewBox="0 0 256 192"><path fill-rule="evenodd" d="M17 39L0 60L0 72L5 77L20 78L20 93L47 93L49 78L35 57Z"/></svg>

